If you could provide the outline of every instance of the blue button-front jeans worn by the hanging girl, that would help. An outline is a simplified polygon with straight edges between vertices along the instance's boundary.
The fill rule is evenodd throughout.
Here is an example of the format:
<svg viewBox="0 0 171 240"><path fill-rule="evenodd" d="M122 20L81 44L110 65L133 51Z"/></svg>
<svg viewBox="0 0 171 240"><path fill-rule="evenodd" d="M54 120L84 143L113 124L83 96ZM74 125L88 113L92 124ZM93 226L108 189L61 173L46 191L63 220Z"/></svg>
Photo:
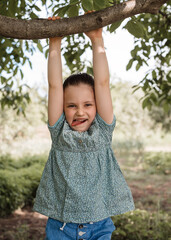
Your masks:
<svg viewBox="0 0 171 240"><path fill-rule="evenodd" d="M49 218L46 225L45 240L110 240L115 226L112 219L99 222L63 223Z"/></svg>

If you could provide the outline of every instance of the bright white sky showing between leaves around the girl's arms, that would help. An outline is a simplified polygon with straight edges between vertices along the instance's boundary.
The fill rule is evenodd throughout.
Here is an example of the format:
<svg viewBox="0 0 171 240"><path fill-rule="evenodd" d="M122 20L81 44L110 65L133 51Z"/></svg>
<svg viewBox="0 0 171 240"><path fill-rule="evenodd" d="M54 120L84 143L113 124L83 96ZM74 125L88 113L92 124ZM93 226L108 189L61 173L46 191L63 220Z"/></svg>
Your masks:
<svg viewBox="0 0 171 240"><path fill-rule="evenodd" d="M147 67L143 67L138 72L135 70L133 65L132 69L126 71L126 65L131 58L130 51L133 49L133 36L130 35L124 29L118 29L116 33L105 33L103 34L106 54L109 63L111 78L116 76L121 78L123 81L131 81L138 83L144 77ZM89 51L86 56L89 60L92 59L92 54ZM30 86L34 83L41 83L42 80L47 78L47 59L44 58L43 54L37 52L34 56L30 57L33 69L29 66L24 67L24 78ZM64 62L64 60L63 60Z"/></svg>

